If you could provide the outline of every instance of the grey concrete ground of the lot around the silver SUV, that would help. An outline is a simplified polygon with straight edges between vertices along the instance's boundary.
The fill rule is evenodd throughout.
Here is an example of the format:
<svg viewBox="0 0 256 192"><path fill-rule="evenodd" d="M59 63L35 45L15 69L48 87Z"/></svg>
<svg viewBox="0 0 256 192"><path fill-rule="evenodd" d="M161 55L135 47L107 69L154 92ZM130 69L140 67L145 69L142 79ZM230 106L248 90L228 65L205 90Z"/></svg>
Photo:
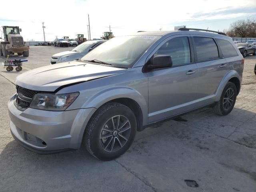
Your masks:
<svg viewBox="0 0 256 192"><path fill-rule="evenodd" d="M24 66L48 65L51 55L64 49L31 47ZM229 115L205 108L147 128L137 133L128 152L109 162L84 148L39 155L21 147L10 134L6 106L21 72L1 69L0 192L256 191L255 63L256 56L246 57L242 89ZM188 187L185 179L199 187Z"/></svg>

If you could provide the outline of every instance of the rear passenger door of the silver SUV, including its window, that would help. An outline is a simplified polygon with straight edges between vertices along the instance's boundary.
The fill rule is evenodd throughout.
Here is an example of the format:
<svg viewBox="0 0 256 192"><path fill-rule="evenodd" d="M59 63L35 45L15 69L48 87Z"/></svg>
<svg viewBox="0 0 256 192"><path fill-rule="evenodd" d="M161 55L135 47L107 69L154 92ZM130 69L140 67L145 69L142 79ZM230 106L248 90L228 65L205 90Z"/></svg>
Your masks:
<svg viewBox="0 0 256 192"><path fill-rule="evenodd" d="M198 67L198 94L204 105L214 101L214 94L228 72L228 64L212 36L191 36Z"/></svg>

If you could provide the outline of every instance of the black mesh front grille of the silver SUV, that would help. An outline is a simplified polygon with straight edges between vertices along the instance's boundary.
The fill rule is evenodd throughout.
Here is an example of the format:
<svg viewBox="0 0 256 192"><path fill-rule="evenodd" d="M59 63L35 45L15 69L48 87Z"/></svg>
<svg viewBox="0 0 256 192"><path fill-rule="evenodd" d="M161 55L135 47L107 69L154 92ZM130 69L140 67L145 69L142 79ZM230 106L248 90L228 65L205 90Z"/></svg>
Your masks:
<svg viewBox="0 0 256 192"><path fill-rule="evenodd" d="M32 98L37 93L37 91L26 89L18 85L16 85L16 90L16 106L19 110L24 111L26 108L30 106L30 102L32 101Z"/></svg>

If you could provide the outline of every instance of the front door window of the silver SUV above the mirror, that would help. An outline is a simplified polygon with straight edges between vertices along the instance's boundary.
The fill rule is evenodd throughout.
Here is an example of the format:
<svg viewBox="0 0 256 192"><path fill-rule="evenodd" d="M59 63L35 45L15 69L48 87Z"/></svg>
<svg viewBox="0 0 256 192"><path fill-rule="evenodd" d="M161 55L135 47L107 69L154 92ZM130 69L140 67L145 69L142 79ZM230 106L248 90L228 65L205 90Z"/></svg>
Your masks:
<svg viewBox="0 0 256 192"><path fill-rule="evenodd" d="M172 58L172 66L188 64L191 62L190 47L187 37L177 37L163 44L156 55L169 55Z"/></svg>

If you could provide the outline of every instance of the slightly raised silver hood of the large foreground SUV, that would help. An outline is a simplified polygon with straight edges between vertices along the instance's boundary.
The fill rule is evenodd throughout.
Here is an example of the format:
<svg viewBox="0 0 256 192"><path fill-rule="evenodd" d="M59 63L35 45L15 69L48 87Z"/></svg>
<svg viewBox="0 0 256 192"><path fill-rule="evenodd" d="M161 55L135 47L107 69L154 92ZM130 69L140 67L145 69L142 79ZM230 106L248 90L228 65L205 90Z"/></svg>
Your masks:
<svg viewBox="0 0 256 192"><path fill-rule="evenodd" d="M20 74L15 84L31 90L54 92L60 86L112 76L126 70L78 61L64 62Z"/></svg>

